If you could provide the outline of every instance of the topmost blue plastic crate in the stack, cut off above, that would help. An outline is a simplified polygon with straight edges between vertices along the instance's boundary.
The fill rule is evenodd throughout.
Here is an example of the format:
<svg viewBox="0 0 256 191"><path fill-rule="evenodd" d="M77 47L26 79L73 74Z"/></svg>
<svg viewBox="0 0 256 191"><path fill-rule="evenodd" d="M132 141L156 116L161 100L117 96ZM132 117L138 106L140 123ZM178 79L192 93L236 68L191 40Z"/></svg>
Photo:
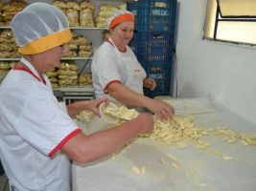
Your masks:
<svg viewBox="0 0 256 191"><path fill-rule="evenodd" d="M135 15L138 32L173 32L175 30L176 0L138 0L128 3Z"/></svg>

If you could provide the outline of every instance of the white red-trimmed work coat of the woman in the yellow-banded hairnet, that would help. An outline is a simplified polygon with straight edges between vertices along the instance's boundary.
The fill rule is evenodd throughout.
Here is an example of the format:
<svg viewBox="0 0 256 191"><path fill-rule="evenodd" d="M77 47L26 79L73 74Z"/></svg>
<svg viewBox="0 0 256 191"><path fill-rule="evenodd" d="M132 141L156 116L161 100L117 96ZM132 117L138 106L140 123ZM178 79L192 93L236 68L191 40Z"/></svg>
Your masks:
<svg viewBox="0 0 256 191"><path fill-rule="evenodd" d="M46 85L13 70L0 85L0 158L15 190L70 190L70 160L61 146L81 130Z"/></svg>

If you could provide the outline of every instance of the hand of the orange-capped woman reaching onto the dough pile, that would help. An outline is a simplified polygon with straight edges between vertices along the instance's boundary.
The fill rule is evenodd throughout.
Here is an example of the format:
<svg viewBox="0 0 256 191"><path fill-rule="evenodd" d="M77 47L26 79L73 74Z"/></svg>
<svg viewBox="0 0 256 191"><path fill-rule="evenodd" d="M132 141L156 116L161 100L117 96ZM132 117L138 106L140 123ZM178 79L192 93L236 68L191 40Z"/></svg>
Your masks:
<svg viewBox="0 0 256 191"><path fill-rule="evenodd" d="M147 108L162 119L168 119L175 115L175 109L172 105L158 99L150 99Z"/></svg>

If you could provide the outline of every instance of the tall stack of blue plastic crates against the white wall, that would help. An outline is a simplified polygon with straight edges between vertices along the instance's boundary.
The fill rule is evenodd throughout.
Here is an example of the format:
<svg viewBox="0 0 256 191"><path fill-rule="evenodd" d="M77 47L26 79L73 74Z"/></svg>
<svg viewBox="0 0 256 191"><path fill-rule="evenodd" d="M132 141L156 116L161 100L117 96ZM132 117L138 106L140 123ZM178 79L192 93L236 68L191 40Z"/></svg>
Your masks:
<svg viewBox="0 0 256 191"><path fill-rule="evenodd" d="M135 32L129 46L147 74L155 79L146 96L169 96L175 37L176 0L138 0L128 3L135 15Z"/></svg>

